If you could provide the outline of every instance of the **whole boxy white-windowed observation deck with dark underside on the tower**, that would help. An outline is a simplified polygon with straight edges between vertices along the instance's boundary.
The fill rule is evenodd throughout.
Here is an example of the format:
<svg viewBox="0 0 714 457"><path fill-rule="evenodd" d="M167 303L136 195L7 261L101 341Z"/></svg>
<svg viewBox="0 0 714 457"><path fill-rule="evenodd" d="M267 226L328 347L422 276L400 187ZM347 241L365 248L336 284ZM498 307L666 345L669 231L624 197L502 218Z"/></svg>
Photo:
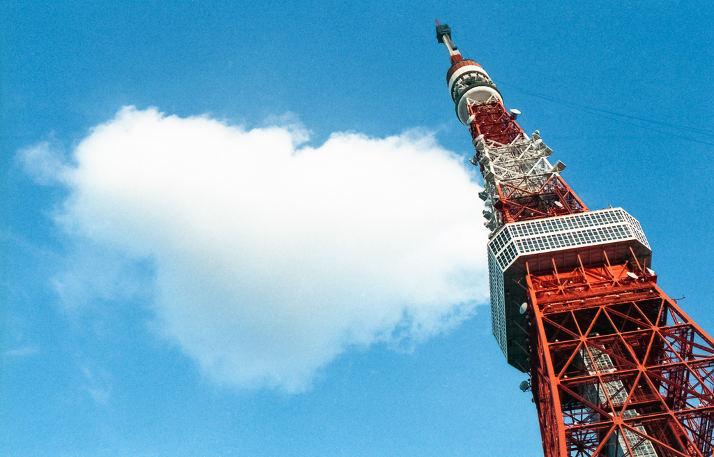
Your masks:
<svg viewBox="0 0 714 457"><path fill-rule="evenodd" d="M582 265L622 263L633 256L650 264L652 251L637 219L621 208L516 222L488 242L493 336L508 363L528 368L528 321L521 314L526 275Z"/></svg>

